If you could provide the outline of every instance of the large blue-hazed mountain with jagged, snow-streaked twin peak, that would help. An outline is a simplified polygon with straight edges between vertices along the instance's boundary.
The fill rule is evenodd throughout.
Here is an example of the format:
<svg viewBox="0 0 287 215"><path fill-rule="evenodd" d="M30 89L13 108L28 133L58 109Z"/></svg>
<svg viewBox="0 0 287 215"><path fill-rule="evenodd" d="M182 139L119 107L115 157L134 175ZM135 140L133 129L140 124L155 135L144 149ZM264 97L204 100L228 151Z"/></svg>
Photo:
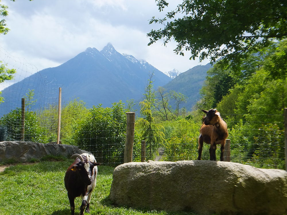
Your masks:
<svg viewBox="0 0 287 215"><path fill-rule="evenodd" d="M79 98L88 107L99 103L110 107L127 98L139 100L149 72L154 73L155 88L171 80L148 62L120 54L110 43L101 51L89 47L58 67L43 69L3 89L1 96L5 102L0 104L0 116L20 107L28 89L34 89L34 99L37 99L34 109L56 103L58 87L62 87L63 104Z"/></svg>

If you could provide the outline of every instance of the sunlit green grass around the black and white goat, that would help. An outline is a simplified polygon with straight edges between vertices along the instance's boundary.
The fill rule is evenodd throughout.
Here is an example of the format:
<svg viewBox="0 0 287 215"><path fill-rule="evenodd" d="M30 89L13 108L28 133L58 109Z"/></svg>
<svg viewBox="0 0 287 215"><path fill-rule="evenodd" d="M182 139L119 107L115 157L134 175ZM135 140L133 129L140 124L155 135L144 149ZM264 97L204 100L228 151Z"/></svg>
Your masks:
<svg viewBox="0 0 287 215"><path fill-rule="evenodd" d="M51 161L53 160L53 161ZM64 186L64 175L71 160L47 158L31 165L17 164L0 173L1 215L69 215L70 207ZM61 159L58 159L61 160ZM190 212L165 212L117 207L110 202L113 167L98 167L96 189L92 194L91 215L187 215ZM80 198L75 201L79 214ZM88 214L88 213L85 213Z"/></svg>

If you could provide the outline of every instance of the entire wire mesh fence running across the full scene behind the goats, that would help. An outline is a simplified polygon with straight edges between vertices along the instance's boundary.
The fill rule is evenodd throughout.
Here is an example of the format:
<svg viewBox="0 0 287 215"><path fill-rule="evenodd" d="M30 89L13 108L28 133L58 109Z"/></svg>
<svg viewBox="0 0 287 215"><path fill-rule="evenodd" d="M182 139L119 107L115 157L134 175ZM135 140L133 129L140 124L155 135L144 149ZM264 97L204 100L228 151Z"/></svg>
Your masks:
<svg viewBox="0 0 287 215"><path fill-rule="evenodd" d="M57 80L49 80L38 69L15 58L0 47L0 61L18 74L14 82L0 83L0 141L22 140L21 99L25 106L25 141L56 142L58 124ZM10 84L10 85L9 85ZM65 89L63 89L65 90ZM88 110L78 101L62 108L61 140L90 151L100 163L117 166L124 162L125 113L117 106ZM89 117L87 117L89 116ZM284 115L221 113L228 124L230 161L256 167L285 169ZM136 120L137 121L137 120ZM137 122L136 122L137 124ZM197 159L201 122L192 119L158 122L160 131L135 126L133 161L141 160L141 140L146 140L146 160L180 161ZM160 133L161 132L161 133ZM149 134L143 136L142 134ZM160 134L160 136L158 136ZM162 138L163 137L163 138ZM161 140L162 141L159 141ZM158 140L158 141L157 141ZM217 149L219 160L220 149ZM203 145L203 160L209 160L209 146Z"/></svg>

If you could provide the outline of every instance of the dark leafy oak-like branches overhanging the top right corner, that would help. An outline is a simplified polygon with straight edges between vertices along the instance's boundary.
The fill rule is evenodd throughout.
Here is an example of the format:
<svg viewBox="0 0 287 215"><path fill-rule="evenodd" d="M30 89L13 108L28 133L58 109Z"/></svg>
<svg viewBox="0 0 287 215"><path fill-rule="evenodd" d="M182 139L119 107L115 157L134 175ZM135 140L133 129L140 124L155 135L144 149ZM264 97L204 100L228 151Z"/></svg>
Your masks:
<svg viewBox="0 0 287 215"><path fill-rule="evenodd" d="M166 0L156 3L159 11L168 6ZM287 38L286 8L286 0L183 0L164 18L152 17L150 24L164 28L147 34L148 45L160 39L166 45L174 39L176 54L190 51L190 59L199 56L199 60L211 62L224 57L223 66L231 62L236 68L248 52L257 53L274 40Z"/></svg>

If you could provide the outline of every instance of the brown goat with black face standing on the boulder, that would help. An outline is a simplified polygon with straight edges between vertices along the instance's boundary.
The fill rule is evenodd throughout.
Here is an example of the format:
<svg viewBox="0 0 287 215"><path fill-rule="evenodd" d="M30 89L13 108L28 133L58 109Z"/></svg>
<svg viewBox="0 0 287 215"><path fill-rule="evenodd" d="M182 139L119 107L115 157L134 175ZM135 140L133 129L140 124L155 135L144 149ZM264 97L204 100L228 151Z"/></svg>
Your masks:
<svg viewBox="0 0 287 215"><path fill-rule="evenodd" d="M216 144L220 144L220 161L223 161L224 144L228 137L227 124L216 109L202 111L206 114L206 117L199 130L197 160L201 160L203 142L205 142L210 144L209 154L211 161L216 161Z"/></svg>

